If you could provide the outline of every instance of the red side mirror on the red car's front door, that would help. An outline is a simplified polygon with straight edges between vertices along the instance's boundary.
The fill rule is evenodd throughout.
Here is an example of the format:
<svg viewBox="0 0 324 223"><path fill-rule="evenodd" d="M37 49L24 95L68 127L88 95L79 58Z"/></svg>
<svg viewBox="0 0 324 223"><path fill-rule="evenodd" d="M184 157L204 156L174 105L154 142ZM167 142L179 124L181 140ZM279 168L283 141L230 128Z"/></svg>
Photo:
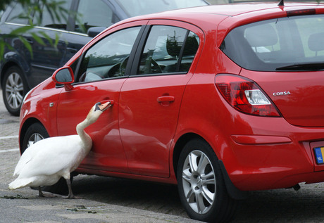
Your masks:
<svg viewBox="0 0 324 223"><path fill-rule="evenodd" d="M56 84L64 84L66 91L73 89L71 85L74 82L73 70L70 67L58 68L51 76L51 78L56 82Z"/></svg>

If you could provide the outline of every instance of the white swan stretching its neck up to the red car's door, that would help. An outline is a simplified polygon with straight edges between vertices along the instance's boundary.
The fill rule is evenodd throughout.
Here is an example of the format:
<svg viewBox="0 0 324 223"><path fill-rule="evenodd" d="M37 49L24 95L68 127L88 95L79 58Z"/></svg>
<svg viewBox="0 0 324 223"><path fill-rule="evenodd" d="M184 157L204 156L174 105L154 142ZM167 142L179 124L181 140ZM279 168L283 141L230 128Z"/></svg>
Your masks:
<svg viewBox="0 0 324 223"><path fill-rule="evenodd" d="M80 165L92 148L92 139L84 129L96 122L101 113L110 106L110 101L96 103L86 119L77 125L77 135L46 138L28 147L13 173L18 178L9 184L9 189L38 186L39 196L44 196L40 186L56 184L63 177L68 184L67 198L74 198L70 172Z"/></svg>

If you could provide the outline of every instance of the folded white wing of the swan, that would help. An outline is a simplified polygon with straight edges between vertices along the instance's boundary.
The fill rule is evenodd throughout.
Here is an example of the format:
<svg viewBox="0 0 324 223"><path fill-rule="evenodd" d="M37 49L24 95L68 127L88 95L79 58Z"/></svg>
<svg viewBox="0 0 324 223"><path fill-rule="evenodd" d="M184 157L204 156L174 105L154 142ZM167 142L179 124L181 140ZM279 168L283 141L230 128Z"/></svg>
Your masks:
<svg viewBox="0 0 324 223"><path fill-rule="evenodd" d="M25 155L26 158L22 156L23 161L18 162L17 172L20 177L60 172L76 160L81 146L80 136L77 135L43 139L30 146L32 149Z"/></svg>

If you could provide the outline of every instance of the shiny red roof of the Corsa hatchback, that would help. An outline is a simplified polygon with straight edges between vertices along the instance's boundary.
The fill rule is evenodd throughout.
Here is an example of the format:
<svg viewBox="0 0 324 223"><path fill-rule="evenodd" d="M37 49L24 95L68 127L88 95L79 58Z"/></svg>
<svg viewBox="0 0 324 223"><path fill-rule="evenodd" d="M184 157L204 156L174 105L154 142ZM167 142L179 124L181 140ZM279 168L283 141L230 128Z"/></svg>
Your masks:
<svg viewBox="0 0 324 223"><path fill-rule="evenodd" d="M297 2L285 2L285 6L278 6L278 4L278 1L249 2L181 8L173 11L139 15L122 20L111 27L139 20L180 20L186 23L192 23L200 27L201 30L218 30L217 45L220 46L226 34L239 25L254 23L259 20L287 17L287 11L299 11L299 13L303 13L305 9L312 9L316 10L316 13L324 13L324 4Z"/></svg>

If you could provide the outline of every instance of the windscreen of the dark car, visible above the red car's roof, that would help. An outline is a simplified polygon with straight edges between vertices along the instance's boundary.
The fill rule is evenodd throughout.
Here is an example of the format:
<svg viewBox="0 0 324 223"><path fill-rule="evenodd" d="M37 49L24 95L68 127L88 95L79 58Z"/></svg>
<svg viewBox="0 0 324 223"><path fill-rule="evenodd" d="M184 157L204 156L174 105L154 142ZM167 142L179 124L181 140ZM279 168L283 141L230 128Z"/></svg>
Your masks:
<svg viewBox="0 0 324 223"><path fill-rule="evenodd" d="M158 13L177 8L187 8L194 6L207 6L203 0L118 0L118 4L130 16Z"/></svg>

